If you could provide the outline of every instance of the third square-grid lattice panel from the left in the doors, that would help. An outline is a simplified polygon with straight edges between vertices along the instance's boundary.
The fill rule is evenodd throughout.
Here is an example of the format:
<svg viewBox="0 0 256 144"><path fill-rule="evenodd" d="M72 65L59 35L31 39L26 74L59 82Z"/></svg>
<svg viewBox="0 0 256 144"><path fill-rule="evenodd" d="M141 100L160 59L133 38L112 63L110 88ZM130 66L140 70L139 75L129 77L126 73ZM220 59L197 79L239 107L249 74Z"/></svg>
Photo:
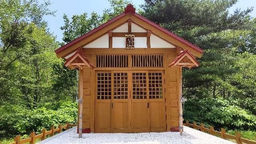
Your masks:
<svg viewBox="0 0 256 144"><path fill-rule="evenodd" d="M146 73L137 72L132 73L132 98L133 99L146 99Z"/></svg>

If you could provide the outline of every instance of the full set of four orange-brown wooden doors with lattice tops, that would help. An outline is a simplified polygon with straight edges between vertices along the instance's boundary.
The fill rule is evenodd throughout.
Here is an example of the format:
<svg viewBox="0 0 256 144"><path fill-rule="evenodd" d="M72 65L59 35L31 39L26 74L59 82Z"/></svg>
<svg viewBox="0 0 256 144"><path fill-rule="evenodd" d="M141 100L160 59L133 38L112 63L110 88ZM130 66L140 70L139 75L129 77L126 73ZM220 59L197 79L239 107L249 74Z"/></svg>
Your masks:
<svg viewBox="0 0 256 144"><path fill-rule="evenodd" d="M166 131L164 72L96 72L95 132Z"/></svg>

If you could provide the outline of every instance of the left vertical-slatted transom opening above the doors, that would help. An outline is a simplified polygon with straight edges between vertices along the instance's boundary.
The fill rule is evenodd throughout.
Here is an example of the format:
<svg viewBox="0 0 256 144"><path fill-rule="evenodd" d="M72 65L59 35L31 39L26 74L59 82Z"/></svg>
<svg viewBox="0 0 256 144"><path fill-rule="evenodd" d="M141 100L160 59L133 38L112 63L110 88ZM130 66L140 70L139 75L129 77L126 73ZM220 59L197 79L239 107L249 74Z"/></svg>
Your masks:
<svg viewBox="0 0 256 144"><path fill-rule="evenodd" d="M128 67L128 55L96 55L97 68Z"/></svg>

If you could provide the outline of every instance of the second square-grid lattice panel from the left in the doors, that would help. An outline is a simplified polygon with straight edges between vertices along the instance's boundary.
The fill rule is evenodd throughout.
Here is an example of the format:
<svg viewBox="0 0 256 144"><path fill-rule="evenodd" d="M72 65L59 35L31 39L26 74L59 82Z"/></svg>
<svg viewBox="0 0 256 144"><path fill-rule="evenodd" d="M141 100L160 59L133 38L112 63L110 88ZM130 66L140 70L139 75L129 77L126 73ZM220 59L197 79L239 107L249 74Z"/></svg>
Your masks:
<svg viewBox="0 0 256 144"><path fill-rule="evenodd" d="M114 73L114 99L128 98L128 75L126 72Z"/></svg>

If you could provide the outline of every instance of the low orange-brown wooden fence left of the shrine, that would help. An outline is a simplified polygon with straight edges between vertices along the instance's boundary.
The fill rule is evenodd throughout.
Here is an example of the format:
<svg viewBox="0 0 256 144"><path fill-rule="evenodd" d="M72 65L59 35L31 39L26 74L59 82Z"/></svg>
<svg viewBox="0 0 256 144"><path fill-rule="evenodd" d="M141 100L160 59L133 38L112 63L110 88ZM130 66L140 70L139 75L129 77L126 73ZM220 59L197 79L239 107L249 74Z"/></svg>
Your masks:
<svg viewBox="0 0 256 144"><path fill-rule="evenodd" d="M44 128L41 134L38 134L38 135L36 135L35 132L31 132L29 138L22 139L22 140L20 139L20 135L18 135L14 138L14 142L11 142L10 144L25 144L27 142L29 142L30 144L34 144L35 140L39 138L41 140L44 140L47 135L54 136L54 132L57 132L59 134L63 129L68 130L69 127L74 127L74 126L77 126L77 124L69 124L69 122L66 122L64 126L59 124L58 128L54 128L54 126L52 126L49 131L46 131L46 128Z"/></svg>

